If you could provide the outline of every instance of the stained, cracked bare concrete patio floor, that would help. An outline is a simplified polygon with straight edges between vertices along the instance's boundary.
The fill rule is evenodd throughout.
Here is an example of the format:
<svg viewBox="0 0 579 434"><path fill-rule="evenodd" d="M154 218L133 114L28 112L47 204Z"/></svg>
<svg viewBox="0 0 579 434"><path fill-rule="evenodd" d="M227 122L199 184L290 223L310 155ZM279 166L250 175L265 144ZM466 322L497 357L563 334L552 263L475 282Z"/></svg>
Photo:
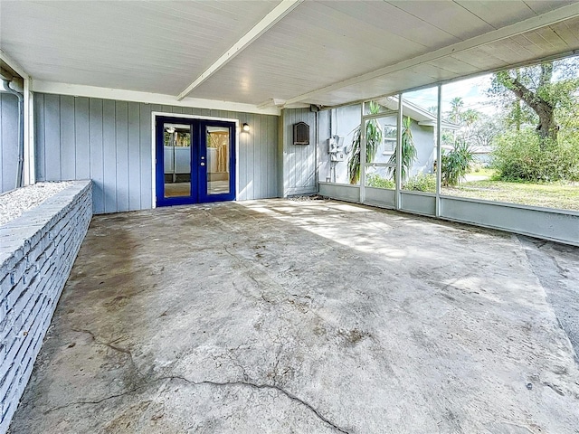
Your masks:
<svg viewBox="0 0 579 434"><path fill-rule="evenodd" d="M577 433L577 263L336 202L95 216L11 432Z"/></svg>

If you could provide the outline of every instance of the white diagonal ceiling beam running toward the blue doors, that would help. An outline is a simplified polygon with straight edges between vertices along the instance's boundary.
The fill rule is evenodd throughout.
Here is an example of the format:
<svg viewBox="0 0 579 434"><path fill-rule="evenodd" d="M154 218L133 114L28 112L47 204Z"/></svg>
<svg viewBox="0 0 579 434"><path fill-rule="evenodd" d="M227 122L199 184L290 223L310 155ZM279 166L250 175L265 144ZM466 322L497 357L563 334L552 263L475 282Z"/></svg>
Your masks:
<svg viewBox="0 0 579 434"><path fill-rule="evenodd" d="M185 88L178 96L177 100L184 99L196 87L211 77L215 72L219 71L227 62L245 50L253 41L258 39L263 33L271 29L273 25L278 23L284 16L293 11L304 0L281 0L280 4L275 6L273 10L265 15L258 24L255 24L248 33L245 33L242 38L235 42L232 47L223 55L214 61L209 68L207 68L193 83Z"/></svg>

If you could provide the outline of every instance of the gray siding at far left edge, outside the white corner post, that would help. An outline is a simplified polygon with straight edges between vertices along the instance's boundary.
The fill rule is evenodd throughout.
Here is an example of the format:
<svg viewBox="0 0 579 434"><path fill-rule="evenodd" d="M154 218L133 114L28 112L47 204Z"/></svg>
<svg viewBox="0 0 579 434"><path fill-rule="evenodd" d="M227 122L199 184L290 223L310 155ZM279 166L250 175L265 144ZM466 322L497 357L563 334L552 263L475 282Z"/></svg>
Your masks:
<svg viewBox="0 0 579 434"><path fill-rule="evenodd" d="M18 98L0 92L0 193L16 187L18 172Z"/></svg>

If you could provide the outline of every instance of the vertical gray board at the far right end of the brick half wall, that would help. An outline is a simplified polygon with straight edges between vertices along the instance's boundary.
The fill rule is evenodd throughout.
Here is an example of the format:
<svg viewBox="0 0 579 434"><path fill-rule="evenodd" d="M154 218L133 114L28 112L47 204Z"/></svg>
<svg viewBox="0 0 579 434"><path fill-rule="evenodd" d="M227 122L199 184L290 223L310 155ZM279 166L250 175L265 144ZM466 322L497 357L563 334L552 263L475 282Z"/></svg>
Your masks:
<svg viewBox="0 0 579 434"><path fill-rule="evenodd" d="M92 212L105 212L104 142L102 131L102 99L90 99L89 146L90 179L92 179Z"/></svg>

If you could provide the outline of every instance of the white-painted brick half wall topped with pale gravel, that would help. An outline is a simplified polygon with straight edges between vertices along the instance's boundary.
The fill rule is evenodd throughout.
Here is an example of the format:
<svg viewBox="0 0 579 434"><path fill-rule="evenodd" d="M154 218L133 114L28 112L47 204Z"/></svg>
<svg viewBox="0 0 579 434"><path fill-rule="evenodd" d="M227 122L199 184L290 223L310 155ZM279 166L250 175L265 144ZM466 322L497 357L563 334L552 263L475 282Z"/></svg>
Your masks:
<svg viewBox="0 0 579 434"><path fill-rule="evenodd" d="M33 371L92 217L90 181L75 181L0 227L0 433Z"/></svg>

